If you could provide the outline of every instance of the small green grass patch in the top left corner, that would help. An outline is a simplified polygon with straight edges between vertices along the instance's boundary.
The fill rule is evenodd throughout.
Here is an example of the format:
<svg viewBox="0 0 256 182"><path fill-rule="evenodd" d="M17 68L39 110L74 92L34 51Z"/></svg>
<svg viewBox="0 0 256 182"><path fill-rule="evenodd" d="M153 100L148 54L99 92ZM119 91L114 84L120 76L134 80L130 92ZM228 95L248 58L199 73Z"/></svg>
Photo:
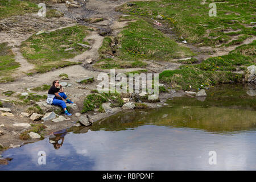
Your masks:
<svg viewBox="0 0 256 182"><path fill-rule="evenodd" d="M36 13L39 10L38 5L28 1L1 0L0 1L0 20L15 15L25 13Z"/></svg>

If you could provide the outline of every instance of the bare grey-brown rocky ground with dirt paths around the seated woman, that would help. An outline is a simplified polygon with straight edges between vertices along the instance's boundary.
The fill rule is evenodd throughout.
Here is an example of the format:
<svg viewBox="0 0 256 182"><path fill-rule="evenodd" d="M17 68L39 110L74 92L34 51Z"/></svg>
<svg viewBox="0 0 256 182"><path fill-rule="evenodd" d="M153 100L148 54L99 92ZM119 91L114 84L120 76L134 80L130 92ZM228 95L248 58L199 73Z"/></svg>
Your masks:
<svg viewBox="0 0 256 182"><path fill-rule="evenodd" d="M1 151L7 150L8 148L20 147L23 144L36 142L42 137L47 137L53 131L64 129L67 127L79 127L81 125L89 126L91 123L98 121L101 118L109 117L109 115L115 114L119 111L126 109L135 109L134 97L123 97L125 104L123 107L109 106L110 102L102 105L104 107L105 113L100 113L98 110L90 111L89 113L80 114L83 107L84 98L91 93L92 90L97 89L97 75L102 72L108 73L109 70L98 70L93 68L94 61L98 60L98 48L102 45L104 35L117 35L122 27L126 26L127 22L118 22L119 16L122 14L114 11L115 7L127 3L127 0L119 1L71 1L68 6L66 3L52 3L48 5L48 8L55 9L64 14L64 17L60 18L42 18L36 14L25 14L19 16L12 16L11 18L6 18L0 22L0 42L8 42L9 46L12 46L12 51L15 54L15 60L20 63L20 67L12 74L15 77L14 82L9 82L7 84L0 84L0 101L2 106L0 106L0 149ZM84 22L84 19L97 19L104 18L100 22ZM33 76L28 76L26 73L34 68L33 64L27 62L26 59L19 52L20 44L28 39L31 35L35 34L40 30L54 31L59 28L73 26L76 23L82 23L86 26L94 28L94 30L87 39L91 40L92 48L85 51L81 55L69 59L69 61L81 61L81 65L72 65L70 67L55 69L54 71L35 74ZM254 38L253 38L254 39ZM250 41L252 41L251 39ZM206 59L209 57L210 49L207 47L201 47L201 49L195 48L192 45L188 47L195 49L199 52L198 59ZM233 47L233 49L236 47ZM230 50L218 50L214 53L216 55L222 55ZM147 61L147 60L145 60ZM164 70L173 70L179 68L179 63L170 62L158 62L147 61L147 69L152 73L160 73ZM136 71L138 68L129 69L116 69L116 73L125 73L129 71ZM68 80L59 77L61 73L68 75ZM255 66L250 68L250 80L255 82ZM91 84L80 84L77 81L85 79L87 77L94 77L94 81ZM26 98L28 94L35 93L31 91L32 88L37 86L42 86L44 84L51 85L53 80L59 79L63 82L64 92L67 93L68 97L71 98L75 104L68 105L71 107L71 112L73 115L71 117L66 117L63 114L57 115L55 112L57 107L49 106L46 104L46 100L42 99L40 101L30 101L30 105L20 105L19 94L24 95ZM6 91L12 90L14 93L10 96L3 94ZM37 91L36 94L44 95L47 91ZM160 93L160 100L155 103L145 102L148 107L161 107L167 98L180 97L187 95L189 97L196 97L201 99L205 97L205 90L201 90L199 93L195 92L184 92L175 91L169 89L168 93ZM16 102L13 102L16 101ZM38 105L44 111L44 114L33 114L27 111L28 107L32 105ZM80 121L80 122L78 122ZM39 125L43 124L43 125ZM41 126L45 126L41 128ZM33 127L39 127L39 134L34 132ZM38 130L36 130L38 131ZM26 133L27 132L27 133ZM20 137L23 133L26 133L30 137L24 140Z"/></svg>

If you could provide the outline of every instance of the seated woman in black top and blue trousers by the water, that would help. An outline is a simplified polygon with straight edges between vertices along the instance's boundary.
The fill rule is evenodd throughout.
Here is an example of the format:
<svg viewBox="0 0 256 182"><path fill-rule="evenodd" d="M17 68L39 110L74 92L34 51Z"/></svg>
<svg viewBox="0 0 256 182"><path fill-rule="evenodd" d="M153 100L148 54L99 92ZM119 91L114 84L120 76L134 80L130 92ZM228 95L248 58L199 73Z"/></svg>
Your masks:
<svg viewBox="0 0 256 182"><path fill-rule="evenodd" d="M47 103L61 106L65 115L72 115L71 113L68 113L67 106L64 101L73 104L73 102L69 100L66 94L63 92L63 88L60 85L59 80L55 80L52 82L52 86L48 91Z"/></svg>

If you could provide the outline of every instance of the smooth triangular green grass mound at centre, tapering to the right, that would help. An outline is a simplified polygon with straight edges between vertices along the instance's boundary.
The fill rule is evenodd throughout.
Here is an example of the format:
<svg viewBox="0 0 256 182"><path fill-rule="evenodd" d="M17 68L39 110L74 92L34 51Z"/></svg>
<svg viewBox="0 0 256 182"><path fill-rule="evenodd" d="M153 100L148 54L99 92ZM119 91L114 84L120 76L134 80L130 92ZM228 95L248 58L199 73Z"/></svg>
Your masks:
<svg viewBox="0 0 256 182"><path fill-rule="evenodd" d="M129 23L118 35L122 45L118 50L121 60L152 59L169 61L183 56L195 55L189 48L179 46L174 40L152 27L143 19Z"/></svg>

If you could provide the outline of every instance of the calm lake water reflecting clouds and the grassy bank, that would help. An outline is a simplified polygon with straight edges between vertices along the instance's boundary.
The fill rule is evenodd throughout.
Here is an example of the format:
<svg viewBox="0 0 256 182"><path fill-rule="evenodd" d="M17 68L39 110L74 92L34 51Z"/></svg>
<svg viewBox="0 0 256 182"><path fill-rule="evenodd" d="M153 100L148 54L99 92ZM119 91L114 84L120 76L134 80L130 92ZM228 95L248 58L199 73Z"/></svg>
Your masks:
<svg viewBox="0 0 256 182"><path fill-rule="evenodd" d="M0 170L256 170L256 97L246 90L226 85L204 101L173 98L159 109L72 127L3 152L13 160ZM61 138L62 146L50 143ZM39 151L46 152L45 165L38 164ZM216 164L209 164L210 151Z"/></svg>

